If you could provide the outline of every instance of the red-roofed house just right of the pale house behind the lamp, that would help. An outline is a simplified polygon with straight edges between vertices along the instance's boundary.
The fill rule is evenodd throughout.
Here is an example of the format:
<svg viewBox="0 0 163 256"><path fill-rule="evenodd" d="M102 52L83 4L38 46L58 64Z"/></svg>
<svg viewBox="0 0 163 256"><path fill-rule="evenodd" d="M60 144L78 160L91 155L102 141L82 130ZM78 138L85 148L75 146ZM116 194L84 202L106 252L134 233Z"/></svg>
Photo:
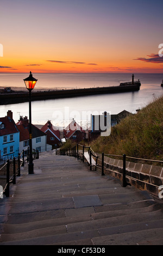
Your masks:
<svg viewBox="0 0 163 256"><path fill-rule="evenodd" d="M47 144L52 145L52 149L59 147L61 143L60 132L57 127L52 125L51 120L48 120L40 130L46 133Z"/></svg>

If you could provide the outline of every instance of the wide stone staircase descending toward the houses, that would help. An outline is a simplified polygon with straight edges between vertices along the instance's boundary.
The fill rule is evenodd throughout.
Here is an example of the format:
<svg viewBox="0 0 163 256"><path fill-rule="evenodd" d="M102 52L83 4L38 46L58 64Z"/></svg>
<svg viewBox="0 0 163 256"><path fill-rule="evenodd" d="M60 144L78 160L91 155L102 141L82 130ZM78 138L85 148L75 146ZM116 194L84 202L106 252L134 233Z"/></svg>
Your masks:
<svg viewBox="0 0 163 256"><path fill-rule="evenodd" d="M55 151L0 200L0 245L163 245L161 200Z"/></svg>

